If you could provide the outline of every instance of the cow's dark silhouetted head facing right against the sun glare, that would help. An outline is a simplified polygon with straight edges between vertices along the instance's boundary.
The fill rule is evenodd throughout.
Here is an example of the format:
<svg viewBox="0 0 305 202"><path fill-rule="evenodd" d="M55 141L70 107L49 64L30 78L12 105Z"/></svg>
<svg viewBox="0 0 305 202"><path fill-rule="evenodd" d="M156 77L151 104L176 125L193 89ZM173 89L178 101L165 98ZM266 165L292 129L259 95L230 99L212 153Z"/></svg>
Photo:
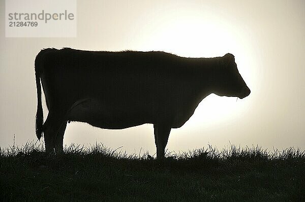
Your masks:
<svg viewBox="0 0 305 202"><path fill-rule="evenodd" d="M242 99L251 92L237 70L234 55L230 53L219 58L218 66L214 69L214 85L214 93L220 96Z"/></svg>

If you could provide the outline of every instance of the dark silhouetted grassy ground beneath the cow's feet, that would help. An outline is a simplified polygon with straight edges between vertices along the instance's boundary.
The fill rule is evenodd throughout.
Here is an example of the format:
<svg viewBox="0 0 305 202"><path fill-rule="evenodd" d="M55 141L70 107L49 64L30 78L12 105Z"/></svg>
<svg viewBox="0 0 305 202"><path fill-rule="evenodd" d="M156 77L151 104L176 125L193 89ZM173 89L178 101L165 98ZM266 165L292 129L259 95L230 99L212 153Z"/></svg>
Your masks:
<svg viewBox="0 0 305 202"><path fill-rule="evenodd" d="M211 146L167 154L127 155L71 145L1 148L4 201L305 201L305 152Z"/></svg>

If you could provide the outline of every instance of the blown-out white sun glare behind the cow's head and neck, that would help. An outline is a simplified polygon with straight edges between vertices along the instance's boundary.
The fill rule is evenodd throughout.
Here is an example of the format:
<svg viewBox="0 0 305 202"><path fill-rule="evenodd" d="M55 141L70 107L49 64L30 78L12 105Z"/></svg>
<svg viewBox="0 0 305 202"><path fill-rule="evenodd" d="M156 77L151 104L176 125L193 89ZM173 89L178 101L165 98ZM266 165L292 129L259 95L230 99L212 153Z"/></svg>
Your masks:
<svg viewBox="0 0 305 202"><path fill-rule="evenodd" d="M244 47L247 44L243 44L243 32L233 24L224 24L221 19L211 17L212 15L205 14L198 18L193 13L194 10L182 17L173 16L171 21L160 21L158 30L142 30L142 33L149 32L154 39L149 40L144 35L146 37L142 37L139 44L146 42L146 51L162 50L184 57L217 57L230 52L235 55L239 72L248 83L250 73L247 72L248 57ZM240 109L240 103L233 97L211 94L203 99L191 117L192 121L187 124L198 125L202 119L208 123L230 119Z"/></svg>

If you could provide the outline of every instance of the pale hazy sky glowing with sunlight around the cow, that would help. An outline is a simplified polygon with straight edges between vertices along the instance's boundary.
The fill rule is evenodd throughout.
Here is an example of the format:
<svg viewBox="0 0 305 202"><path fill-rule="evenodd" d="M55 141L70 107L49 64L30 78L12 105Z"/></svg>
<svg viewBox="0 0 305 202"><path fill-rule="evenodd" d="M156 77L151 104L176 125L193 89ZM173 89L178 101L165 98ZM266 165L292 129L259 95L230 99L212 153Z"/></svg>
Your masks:
<svg viewBox="0 0 305 202"><path fill-rule="evenodd" d="M13 134L18 145L36 140L34 59L42 48L71 47L232 53L251 94L203 99L184 126L172 129L169 151L229 141L305 149L305 1L78 1L77 38L5 38L5 1L0 9L0 147L12 145ZM150 124L123 130L68 124L65 144L96 142L128 153L156 151Z"/></svg>

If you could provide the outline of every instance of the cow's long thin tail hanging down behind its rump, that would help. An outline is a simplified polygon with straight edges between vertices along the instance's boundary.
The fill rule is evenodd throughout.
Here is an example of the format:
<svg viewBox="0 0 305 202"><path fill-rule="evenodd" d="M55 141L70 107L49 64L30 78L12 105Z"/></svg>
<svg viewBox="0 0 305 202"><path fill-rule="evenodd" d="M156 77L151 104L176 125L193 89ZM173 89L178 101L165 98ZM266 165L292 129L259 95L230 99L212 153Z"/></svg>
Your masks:
<svg viewBox="0 0 305 202"><path fill-rule="evenodd" d="M41 52L40 52L41 53ZM40 83L40 70L41 70L41 55L37 55L35 59L35 77L36 77L36 88L37 88L37 112L36 112L36 136L38 140L42 137L42 126L43 126L43 110L41 103L41 83Z"/></svg>

